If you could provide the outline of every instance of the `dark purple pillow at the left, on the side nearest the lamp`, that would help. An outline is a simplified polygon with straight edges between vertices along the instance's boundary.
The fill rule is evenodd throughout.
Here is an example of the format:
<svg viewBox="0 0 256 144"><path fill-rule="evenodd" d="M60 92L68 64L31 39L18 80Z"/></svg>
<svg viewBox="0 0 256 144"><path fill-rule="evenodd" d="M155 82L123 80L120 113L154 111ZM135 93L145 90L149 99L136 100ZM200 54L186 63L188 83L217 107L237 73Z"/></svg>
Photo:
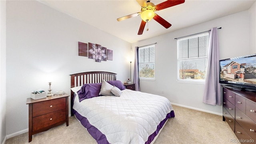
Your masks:
<svg viewBox="0 0 256 144"><path fill-rule="evenodd" d="M84 99L93 98L96 96L102 96L99 95L101 88L101 83L95 83L95 84L84 84L81 89L77 92L79 97L79 102L81 102Z"/></svg>

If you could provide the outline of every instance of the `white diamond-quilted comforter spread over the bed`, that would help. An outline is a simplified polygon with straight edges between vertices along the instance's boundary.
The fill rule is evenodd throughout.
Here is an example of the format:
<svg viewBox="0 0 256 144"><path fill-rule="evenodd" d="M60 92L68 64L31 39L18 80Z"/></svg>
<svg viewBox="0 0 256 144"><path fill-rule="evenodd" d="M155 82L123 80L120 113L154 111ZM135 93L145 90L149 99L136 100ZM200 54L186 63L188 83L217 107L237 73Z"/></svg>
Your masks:
<svg viewBox="0 0 256 144"><path fill-rule="evenodd" d="M128 89L122 90L120 97L98 96L79 102L76 96L73 108L110 144L144 144L173 110L163 96Z"/></svg>

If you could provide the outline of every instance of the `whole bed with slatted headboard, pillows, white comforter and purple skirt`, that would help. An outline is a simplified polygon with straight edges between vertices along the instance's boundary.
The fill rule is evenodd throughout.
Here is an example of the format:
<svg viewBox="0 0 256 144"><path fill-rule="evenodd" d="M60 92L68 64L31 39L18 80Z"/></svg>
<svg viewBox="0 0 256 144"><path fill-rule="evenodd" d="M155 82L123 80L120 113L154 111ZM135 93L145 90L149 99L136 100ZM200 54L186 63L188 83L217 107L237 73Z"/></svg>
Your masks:
<svg viewBox="0 0 256 144"><path fill-rule="evenodd" d="M167 98L125 89L114 73L70 76L71 114L98 144L152 144L174 117ZM96 93L103 96L93 96Z"/></svg>

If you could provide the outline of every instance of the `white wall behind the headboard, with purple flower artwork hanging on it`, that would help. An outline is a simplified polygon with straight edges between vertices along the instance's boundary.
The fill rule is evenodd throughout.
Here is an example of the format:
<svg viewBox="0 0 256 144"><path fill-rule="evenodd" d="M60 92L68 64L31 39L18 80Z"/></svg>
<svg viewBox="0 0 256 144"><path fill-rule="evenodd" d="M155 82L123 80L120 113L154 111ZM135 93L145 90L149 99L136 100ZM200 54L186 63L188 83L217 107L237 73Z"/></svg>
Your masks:
<svg viewBox="0 0 256 144"><path fill-rule="evenodd" d="M7 1L6 14L6 135L28 128L26 99L33 90L48 90L49 81L53 91L70 94L70 74L108 71L121 81L130 77L130 43L37 1ZM113 61L78 56L78 42L113 50Z"/></svg>

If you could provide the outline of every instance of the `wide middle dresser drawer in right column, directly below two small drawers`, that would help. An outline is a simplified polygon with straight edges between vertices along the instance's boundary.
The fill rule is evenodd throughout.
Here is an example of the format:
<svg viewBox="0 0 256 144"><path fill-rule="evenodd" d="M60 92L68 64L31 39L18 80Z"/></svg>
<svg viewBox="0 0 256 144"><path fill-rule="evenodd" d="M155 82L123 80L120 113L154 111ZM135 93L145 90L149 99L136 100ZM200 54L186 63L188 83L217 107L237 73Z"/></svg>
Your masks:
<svg viewBox="0 0 256 144"><path fill-rule="evenodd" d="M256 142L256 123L236 108L236 121L244 131Z"/></svg>

